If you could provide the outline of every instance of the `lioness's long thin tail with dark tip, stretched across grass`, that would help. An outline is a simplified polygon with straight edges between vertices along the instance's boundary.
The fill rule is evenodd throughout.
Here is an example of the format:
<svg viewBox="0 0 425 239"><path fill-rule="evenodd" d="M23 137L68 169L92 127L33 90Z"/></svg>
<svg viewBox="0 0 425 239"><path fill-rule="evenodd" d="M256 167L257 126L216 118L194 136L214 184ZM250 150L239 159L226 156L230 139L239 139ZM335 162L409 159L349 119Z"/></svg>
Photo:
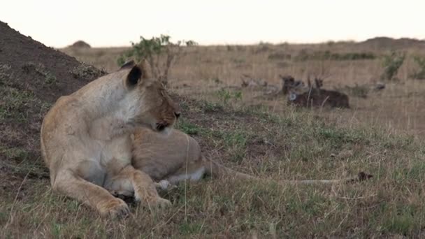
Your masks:
<svg viewBox="0 0 425 239"><path fill-rule="evenodd" d="M237 178L237 179L243 179L243 180L260 180L264 182L269 181L269 180L264 180L261 178L254 177L252 175L247 175L246 173L239 173L237 171L232 170L231 168L222 166L221 164L218 164L215 161L206 159L205 157L203 157L203 164L206 170L206 174L212 176L213 178L229 177L229 178ZM338 183L361 182L363 180L367 180L372 177L373 175L360 172L358 173L357 177L353 177L353 178L343 178L338 180L278 180L278 183L280 184L338 184Z"/></svg>

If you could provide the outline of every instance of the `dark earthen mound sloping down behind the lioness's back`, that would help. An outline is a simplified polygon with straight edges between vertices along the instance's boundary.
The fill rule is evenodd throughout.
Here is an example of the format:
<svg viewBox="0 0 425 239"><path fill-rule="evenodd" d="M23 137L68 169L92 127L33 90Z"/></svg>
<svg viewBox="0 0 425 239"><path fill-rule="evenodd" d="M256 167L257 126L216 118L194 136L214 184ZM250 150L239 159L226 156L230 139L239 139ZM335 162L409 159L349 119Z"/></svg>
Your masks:
<svg viewBox="0 0 425 239"><path fill-rule="evenodd" d="M20 173L31 177L29 169L43 167L39 131L52 103L106 72L23 36L4 22L0 43L1 193L4 183L13 183L11 178L22 178ZM8 180L3 180L6 175Z"/></svg>

